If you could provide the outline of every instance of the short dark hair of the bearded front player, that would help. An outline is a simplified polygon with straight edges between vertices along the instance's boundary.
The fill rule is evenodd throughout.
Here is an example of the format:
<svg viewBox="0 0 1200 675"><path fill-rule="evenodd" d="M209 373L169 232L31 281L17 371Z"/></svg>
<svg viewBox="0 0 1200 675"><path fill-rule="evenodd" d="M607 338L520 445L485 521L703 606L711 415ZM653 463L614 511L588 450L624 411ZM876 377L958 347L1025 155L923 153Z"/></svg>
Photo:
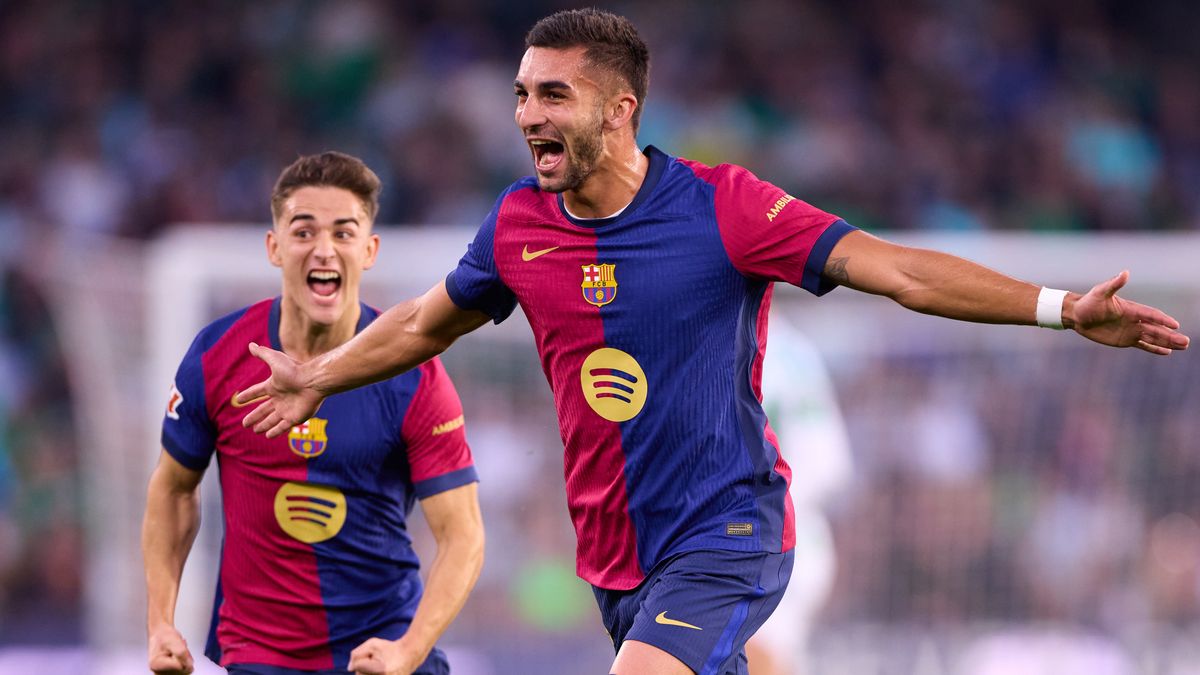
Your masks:
<svg viewBox="0 0 1200 675"><path fill-rule="evenodd" d="M642 118L650 84L650 50L625 17L589 7L563 10L541 19L526 35L526 48L568 49L586 47L588 61L620 76L634 90L634 132Z"/></svg>

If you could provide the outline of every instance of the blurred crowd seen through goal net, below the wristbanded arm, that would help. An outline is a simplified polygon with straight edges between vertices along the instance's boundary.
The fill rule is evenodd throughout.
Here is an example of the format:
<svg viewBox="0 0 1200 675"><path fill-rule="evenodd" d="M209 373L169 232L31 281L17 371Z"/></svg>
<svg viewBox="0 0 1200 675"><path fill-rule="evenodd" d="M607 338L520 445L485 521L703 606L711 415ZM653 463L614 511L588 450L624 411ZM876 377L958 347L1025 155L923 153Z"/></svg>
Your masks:
<svg viewBox="0 0 1200 675"><path fill-rule="evenodd" d="M859 474L835 509L828 621L1194 629L1200 362L1075 345L854 372L839 383Z"/></svg>

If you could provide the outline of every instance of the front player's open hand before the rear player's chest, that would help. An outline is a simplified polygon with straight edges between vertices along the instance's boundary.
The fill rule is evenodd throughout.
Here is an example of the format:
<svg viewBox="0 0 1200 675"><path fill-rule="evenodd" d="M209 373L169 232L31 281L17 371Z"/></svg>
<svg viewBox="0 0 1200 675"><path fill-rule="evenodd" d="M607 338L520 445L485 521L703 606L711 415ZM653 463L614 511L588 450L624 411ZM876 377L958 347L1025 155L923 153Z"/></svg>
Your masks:
<svg viewBox="0 0 1200 675"><path fill-rule="evenodd" d="M256 434L275 438L307 420L325 398L305 386L301 364L283 352L250 344L250 353L263 359L271 369L271 376L253 387L238 393L238 401L251 402L265 399L241 419L242 426L253 426Z"/></svg>

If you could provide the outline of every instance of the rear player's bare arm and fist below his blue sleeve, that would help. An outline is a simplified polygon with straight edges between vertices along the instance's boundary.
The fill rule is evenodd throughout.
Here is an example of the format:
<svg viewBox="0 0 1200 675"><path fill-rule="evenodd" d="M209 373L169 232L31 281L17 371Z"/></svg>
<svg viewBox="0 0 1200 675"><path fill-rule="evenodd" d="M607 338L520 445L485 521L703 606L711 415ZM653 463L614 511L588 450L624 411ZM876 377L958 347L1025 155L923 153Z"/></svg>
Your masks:
<svg viewBox="0 0 1200 675"><path fill-rule="evenodd" d="M202 471L185 467L163 450L146 489L142 558L146 574L149 665L162 675L192 671L187 643L175 629L175 601L184 562L200 526L203 476Z"/></svg>

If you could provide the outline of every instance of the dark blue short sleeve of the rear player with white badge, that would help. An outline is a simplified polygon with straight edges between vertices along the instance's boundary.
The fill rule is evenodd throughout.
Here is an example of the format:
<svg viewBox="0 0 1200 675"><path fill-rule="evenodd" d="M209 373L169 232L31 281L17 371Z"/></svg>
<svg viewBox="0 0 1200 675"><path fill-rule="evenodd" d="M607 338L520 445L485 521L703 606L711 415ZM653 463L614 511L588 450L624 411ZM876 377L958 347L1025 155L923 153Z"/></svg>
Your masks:
<svg viewBox="0 0 1200 675"><path fill-rule="evenodd" d="M203 471L216 448L216 428L209 418L204 393L203 342L188 347L167 398L162 420L162 447L179 464Z"/></svg>

